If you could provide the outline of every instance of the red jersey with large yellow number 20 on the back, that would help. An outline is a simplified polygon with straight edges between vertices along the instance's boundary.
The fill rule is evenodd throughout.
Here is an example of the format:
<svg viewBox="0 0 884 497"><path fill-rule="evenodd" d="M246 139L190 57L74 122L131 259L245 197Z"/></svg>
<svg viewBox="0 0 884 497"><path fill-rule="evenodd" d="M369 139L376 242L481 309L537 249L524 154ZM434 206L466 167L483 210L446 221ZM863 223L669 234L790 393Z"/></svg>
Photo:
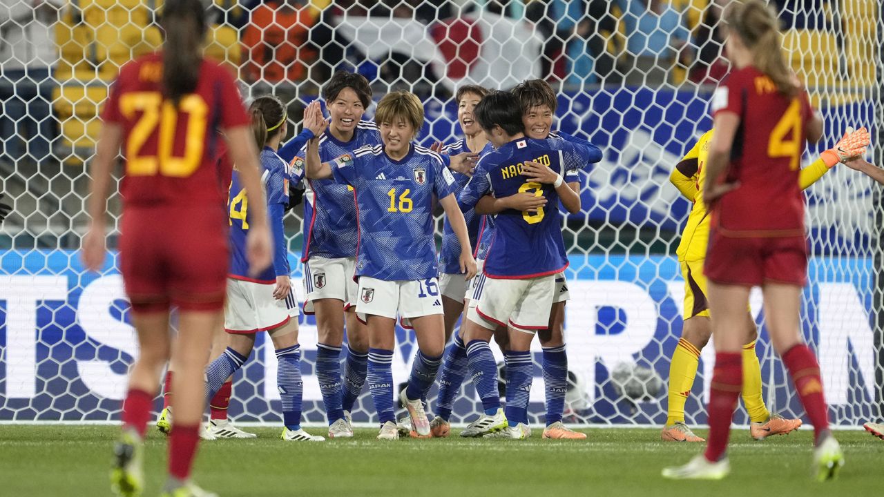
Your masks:
<svg viewBox="0 0 884 497"><path fill-rule="evenodd" d="M219 177L224 138L217 131L248 125L239 89L225 68L203 59L194 93L176 109L162 96L162 76L161 53L124 65L102 112L124 129L124 203L223 205L228 184Z"/></svg>

